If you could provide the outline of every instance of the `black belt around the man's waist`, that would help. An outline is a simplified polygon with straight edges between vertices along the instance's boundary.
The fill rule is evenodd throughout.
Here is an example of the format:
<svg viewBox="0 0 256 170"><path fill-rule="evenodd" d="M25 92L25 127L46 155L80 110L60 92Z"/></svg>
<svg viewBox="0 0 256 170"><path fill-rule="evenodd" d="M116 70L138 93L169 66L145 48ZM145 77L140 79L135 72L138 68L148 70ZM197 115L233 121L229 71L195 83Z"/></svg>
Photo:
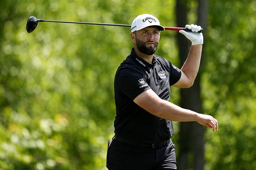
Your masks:
<svg viewBox="0 0 256 170"><path fill-rule="evenodd" d="M124 143L131 144L131 145L137 145L137 146L140 146L140 147L151 147L151 148L158 148L158 147L166 146L171 141L171 139L168 139L166 141L159 142L159 143L144 143L144 142L138 142L138 141L134 141L134 140L130 140L130 139L121 138L117 135L113 139L117 140L119 142L124 142Z"/></svg>

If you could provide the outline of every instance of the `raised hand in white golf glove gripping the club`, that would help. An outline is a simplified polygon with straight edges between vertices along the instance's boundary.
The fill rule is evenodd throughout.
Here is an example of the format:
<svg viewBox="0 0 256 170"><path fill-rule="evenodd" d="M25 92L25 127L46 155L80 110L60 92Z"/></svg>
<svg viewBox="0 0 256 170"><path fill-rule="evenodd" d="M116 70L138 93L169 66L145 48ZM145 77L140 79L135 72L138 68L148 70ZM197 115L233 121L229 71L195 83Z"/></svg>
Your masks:
<svg viewBox="0 0 256 170"><path fill-rule="evenodd" d="M192 45L203 44L203 34L199 33L201 26L191 24L186 25L185 28L191 29L192 32L186 32L184 30L180 30L179 32L187 37L192 42Z"/></svg>

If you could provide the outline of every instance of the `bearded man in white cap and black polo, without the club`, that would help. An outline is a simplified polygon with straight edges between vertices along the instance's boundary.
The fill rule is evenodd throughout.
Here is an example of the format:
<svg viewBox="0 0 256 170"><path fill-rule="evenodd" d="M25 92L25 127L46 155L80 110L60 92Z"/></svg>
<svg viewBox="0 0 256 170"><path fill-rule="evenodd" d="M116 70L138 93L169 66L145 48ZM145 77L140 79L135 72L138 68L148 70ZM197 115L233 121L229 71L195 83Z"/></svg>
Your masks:
<svg viewBox="0 0 256 170"><path fill-rule="evenodd" d="M192 46L180 70L154 55L160 31L164 30L158 19L143 14L133 20L130 36L134 48L118 67L114 82L117 116L115 136L107 151L109 170L176 169L172 121L197 121L218 130L212 116L170 103L170 86L191 87L199 69L201 27L192 24L186 28L193 32L180 33L191 40Z"/></svg>

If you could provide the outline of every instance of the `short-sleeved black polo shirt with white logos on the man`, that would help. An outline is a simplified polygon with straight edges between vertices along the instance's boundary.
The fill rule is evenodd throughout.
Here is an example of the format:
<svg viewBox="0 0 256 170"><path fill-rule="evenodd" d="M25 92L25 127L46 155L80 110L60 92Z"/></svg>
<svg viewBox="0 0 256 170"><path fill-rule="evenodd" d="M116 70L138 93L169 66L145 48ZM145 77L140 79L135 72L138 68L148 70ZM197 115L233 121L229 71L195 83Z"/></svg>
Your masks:
<svg viewBox="0 0 256 170"><path fill-rule="evenodd" d="M115 76L115 134L146 143L171 138L174 133L172 122L150 114L133 100L143 91L152 89L161 99L170 101L170 86L180 78L181 70L167 59L154 55L152 63L148 63L138 57L133 48Z"/></svg>

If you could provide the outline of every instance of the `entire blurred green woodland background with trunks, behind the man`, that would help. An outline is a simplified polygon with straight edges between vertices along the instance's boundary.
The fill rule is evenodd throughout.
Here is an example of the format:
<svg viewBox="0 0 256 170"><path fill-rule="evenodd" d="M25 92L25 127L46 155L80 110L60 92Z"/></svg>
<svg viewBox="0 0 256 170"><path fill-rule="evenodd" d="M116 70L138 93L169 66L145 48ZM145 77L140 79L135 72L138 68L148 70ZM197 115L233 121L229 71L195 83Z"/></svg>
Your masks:
<svg viewBox="0 0 256 170"><path fill-rule="evenodd" d="M219 131L174 122L178 169L256 169L255 0L2 0L0 170L106 170L114 76L133 47L127 27L39 23L27 33L28 17L130 25L144 13L204 29L197 79L171 87L171 102L212 115ZM163 31L156 55L181 68L189 47Z"/></svg>

